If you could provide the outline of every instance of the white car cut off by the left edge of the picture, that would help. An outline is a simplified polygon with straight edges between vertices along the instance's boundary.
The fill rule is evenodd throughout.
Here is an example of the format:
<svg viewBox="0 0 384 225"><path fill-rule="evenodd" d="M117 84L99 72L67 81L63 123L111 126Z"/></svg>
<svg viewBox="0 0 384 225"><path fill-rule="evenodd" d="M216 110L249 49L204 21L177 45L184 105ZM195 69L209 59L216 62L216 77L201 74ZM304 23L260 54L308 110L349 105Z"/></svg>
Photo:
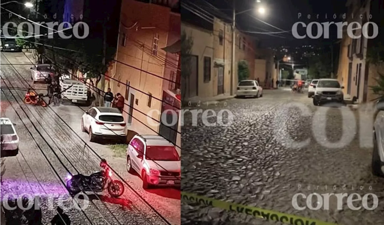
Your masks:
<svg viewBox="0 0 384 225"><path fill-rule="evenodd" d="M3 141L1 151L10 152L11 156L16 156L19 152L19 136L16 133L15 124L8 118L0 118L0 135Z"/></svg>

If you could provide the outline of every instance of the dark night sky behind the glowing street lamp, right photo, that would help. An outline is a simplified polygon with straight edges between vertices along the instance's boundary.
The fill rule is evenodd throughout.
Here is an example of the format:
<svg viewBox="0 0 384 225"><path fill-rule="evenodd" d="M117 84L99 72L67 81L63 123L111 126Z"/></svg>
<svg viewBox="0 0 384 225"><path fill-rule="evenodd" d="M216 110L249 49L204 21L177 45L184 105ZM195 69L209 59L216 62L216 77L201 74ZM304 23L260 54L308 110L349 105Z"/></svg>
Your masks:
<svg viewBox="0 0 384 225"><path fill-rule="evenodd" d="M186 2L191 0L186 0ZM227 17L232 18L232 0L202 0L202 3L209 2L214 7L220 9L223 17L225 14ZM199 0L193 1L195 4ZM256 4L262 4L266 8L265 15L258 15L256 10ZM302 21L305 23L316 22L338 22L341 21L339 15L346 12L346 0L261 0L261 3L256 3L256 0L236 0L236 11L241 12L250 8L255 8L245 13L238 14L236 16L237 27L244 31L256 31L256 32L277 32L281 30L291 31L292 25L295 22ZM201 4L202 6L204 4ZM213 7L207 8L208 12L219 11ZM220 13L220 12L219 12ZM298 18L298 13L301 13L301 18ZM333 19L333 14L336 13L338 18ZM311 14L311 19L306 18L308 14ZM316 15L319 14L319 18ZM326 19L326 14L328 19ZM256 17L256 18L255 18ZM266 25L259 20L263 20L270 25L280 28L278 30L269 25ZM317 29L313 29L313 34L316 35ZM299 29L300 35L305 34L305 28ZM305 44L320 44L322 42L330 43L336 40L337 29L336 26L330 29L331 39L324 40L321 36L318 40L312 40L310 38L295 39L291 32L280 33L273 35L265 34L253 34L262 41L263 47L276 47L281 45L299 46Z"/></svg>

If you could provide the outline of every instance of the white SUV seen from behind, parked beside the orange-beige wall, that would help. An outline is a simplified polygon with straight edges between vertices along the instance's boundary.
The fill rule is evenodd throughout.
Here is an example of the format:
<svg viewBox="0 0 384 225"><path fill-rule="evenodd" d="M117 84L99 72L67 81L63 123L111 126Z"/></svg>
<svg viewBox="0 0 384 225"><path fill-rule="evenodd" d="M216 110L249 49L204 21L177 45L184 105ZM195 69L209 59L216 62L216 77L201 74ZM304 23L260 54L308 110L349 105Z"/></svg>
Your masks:
<svg viewBox="0 0 384 225"><path fill-rule="evenodd" d="M119 139L126 142L127 127L119 109L92 107L81 117L81 131L88 132L89 141L100 139Z"/></svg>

